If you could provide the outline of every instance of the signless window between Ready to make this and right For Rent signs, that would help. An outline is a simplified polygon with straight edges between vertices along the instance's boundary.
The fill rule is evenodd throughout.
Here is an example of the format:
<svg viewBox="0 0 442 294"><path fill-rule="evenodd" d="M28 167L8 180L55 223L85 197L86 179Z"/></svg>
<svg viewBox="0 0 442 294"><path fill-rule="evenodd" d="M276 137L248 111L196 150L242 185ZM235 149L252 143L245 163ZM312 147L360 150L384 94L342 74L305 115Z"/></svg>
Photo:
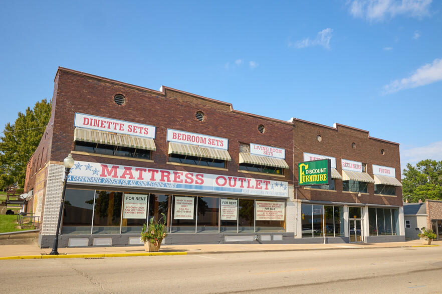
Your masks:
<svg viewBox="0 0 442 294"><path fill-rule="evenodd" d="M197 197L198 213L196 217L197 232L218 232L218 197Z"/></svg>

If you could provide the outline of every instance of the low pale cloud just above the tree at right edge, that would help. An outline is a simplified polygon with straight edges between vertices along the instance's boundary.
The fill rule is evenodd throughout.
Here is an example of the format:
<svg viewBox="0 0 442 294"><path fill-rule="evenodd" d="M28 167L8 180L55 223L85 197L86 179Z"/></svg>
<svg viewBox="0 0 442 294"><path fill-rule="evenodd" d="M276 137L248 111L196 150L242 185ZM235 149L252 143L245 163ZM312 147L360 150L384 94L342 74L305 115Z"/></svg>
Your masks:
<svg viewBox="0 0 442 294"><path fill-rule="evenodd" d="M403 170L407 163L416 164L420 160L442 160L442 141L430 143L426 146L400 150L400 166Z"/></svg>

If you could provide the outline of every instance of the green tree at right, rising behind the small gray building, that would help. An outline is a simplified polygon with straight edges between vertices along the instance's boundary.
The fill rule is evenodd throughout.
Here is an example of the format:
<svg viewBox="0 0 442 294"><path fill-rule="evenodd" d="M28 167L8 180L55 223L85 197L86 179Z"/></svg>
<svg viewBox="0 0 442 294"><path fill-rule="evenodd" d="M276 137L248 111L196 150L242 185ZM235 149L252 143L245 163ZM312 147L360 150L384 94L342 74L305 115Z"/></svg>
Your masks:
<svg viewBox="0 0 442 294"><path fill-rule="evenodd" d="M416 166L407 163L403 170L402 195L409 202L419 199L442 200L442 160L421 160ZM410 195L410 197L407 197Z"/></svg>

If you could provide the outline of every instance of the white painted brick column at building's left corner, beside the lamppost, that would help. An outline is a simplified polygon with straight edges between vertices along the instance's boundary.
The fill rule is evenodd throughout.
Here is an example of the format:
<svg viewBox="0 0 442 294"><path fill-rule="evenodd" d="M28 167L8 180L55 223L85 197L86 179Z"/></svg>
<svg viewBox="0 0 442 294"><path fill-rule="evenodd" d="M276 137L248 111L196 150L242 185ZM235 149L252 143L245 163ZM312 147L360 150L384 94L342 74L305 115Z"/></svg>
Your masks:
<svg viewBox="0 0 442 294"><path fill-rule="evenodd" d="M55 235L57 232L60 201L63 193L65 167L49 164L46 184L45 210L43 211L42 235Z"/></svg>

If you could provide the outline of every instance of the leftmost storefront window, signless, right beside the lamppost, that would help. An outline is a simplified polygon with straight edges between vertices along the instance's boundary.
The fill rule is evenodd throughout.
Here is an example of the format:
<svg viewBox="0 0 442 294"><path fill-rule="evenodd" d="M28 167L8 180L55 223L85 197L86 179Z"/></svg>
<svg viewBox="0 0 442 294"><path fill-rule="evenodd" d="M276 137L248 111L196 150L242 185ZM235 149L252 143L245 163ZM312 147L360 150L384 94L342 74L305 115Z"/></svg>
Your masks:
<svg viewBox="0 0 442 294"><path fill-rule="evenodd" d="M66 189L62 234L90 234L94 190Z"/></svg>

